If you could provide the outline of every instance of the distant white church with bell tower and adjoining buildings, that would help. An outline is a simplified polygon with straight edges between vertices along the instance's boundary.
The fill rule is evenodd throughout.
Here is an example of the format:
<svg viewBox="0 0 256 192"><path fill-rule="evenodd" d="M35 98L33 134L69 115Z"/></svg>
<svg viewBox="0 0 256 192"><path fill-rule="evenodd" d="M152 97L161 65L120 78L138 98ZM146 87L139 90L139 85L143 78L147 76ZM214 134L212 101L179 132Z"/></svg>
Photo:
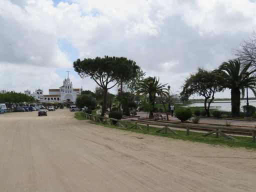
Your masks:
<svg viewBox="0 0 256 192"><path fill-rule="evenodd" d="M69 71L68 71L69 72ZM33 93L30 90L25 90L24 93L33 96L41 102L74 102L77 95L81 94L82 88L73 88L72 81L68 77L63 80L63 85L59 88L50 88L49 94L43 94L43 90L38 88Z"/></svg>

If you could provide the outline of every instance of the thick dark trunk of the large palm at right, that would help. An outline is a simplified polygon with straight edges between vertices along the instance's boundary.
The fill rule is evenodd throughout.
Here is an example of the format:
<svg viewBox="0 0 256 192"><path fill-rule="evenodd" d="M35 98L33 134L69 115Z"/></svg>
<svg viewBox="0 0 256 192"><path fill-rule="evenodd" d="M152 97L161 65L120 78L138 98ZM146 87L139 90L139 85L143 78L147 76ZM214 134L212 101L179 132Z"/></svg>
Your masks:
<svg viewBox="0 0 256 192"><path fill-rule="evenodd" d="M231 116L232 117L240 116L240 89L239 88L231 89Z"/></svg>

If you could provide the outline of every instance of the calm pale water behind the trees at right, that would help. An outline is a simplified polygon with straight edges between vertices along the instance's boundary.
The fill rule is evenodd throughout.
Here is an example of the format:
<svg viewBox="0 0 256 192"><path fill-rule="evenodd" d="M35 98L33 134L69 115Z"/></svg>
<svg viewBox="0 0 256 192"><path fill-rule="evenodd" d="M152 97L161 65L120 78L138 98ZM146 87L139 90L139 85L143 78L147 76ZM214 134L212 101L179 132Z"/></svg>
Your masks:
<svg viewBox="0 0 256 192"><path fill-rule="evenodd" d="M243 111L242 106L246 105L246 100L241 100L240 102L240 111ZM249 105L253 105L256 107L256 100L249 100ZM189 104L189 106L203 106L203 102L193 102ZM231 111L231 101L230 100L217 100L210 104L210 108L216 108L218 110Z"/></svg>

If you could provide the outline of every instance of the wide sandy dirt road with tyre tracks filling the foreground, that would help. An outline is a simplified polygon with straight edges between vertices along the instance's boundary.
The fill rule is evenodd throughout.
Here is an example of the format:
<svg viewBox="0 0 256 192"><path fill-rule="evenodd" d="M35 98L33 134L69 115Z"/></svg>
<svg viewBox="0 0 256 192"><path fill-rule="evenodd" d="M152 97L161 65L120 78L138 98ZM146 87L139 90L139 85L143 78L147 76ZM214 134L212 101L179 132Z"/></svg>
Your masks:
<svg viewBox="0 0 256 192"><path fill-rule="evenodd" d="M0 114L0 191L255 191L256 151Z"/></svg>

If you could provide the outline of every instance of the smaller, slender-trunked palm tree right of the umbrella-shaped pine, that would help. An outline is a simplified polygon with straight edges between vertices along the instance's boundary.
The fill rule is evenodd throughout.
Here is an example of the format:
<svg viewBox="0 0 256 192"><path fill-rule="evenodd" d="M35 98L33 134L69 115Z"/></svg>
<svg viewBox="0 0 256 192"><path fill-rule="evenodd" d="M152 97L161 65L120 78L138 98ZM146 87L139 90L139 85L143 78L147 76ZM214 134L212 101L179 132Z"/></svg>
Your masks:
<svg viewBox="0 0 256 192"><path fill-rule="evenodd" d="M153 109L156 94L157 95L168 94L167 89L164 88L165 85L166 84L159 83L159 77L158 77L158 79L156 79L155 76L154 77L149 76L149 77L143 79L139 83L139 88L136 91L136 93L143 93L143 94L148 93L149 103L151 103L152 109ZM153 118L152 110L150 110L149 118Z"/></svg>

